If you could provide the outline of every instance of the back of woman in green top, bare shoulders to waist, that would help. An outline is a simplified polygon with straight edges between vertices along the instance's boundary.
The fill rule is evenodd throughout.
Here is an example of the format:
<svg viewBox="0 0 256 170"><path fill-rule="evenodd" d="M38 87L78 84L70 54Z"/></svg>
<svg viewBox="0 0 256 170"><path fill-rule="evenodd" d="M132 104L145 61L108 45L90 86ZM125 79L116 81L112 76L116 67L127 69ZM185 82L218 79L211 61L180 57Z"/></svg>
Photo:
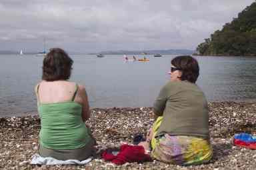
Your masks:
<svg viewBox="0 0 256 170"><path fill-rule="evenodd" d="M40 144L52 149L85 146L90 137L81 116L77 85L69 81L43 81L37 90L41 118Z"/></svg>

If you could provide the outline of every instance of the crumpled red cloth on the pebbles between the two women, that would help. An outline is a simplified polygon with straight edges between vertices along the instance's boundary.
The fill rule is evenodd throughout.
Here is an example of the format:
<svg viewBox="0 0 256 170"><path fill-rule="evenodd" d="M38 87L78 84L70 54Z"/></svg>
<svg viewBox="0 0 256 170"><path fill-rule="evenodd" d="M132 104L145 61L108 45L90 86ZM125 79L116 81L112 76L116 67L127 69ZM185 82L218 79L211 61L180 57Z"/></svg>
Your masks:
<svg viewBox="0 0 256 170"><path fill-rule="evenodd" d="M111 161L116 165L122 165L127 162L151 161L150 155L145 154L145 149L142 146L127 144L121 145L117 155L104 151L102 157L105 161Z"/></svg>

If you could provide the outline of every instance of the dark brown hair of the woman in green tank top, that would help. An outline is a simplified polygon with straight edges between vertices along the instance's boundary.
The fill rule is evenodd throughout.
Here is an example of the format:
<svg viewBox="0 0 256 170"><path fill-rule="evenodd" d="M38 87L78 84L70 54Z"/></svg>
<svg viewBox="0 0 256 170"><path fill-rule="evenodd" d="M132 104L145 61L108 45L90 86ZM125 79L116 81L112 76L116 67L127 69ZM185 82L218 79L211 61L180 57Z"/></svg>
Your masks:
<svg viewBox="0 0 256 170"><path fill-rule="evenodd" d="M73 60L60 48L51 49L43 59L43 75L45 81L67 80L71 75Z"/></svg>

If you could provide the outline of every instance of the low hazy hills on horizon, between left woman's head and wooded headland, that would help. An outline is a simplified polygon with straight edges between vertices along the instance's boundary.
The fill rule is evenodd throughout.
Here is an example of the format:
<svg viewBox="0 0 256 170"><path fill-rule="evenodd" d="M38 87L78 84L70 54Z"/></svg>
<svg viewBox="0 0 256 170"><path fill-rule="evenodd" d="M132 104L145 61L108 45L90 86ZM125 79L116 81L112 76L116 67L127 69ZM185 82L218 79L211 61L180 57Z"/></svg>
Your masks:
<svg viewBox="0 0 256 170"><path fill-rule="evenodd" d="M147 53L149 55L153 54L172 54L172 55L191 55L195 53L193 50L189 49L167 49L167 50L143 50L143 51L127 51L127 50L119 50L119 51L101 51L99 54L104 55L141 55L143 53ZM96 53L91 53L96 54Z"/></svg>

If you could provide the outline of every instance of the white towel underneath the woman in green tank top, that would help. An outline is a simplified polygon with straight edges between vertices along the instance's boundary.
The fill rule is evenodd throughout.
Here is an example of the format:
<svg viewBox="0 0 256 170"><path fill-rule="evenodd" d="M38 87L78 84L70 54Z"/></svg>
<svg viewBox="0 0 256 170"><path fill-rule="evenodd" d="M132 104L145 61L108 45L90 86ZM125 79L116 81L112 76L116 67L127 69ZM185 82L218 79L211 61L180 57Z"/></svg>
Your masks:
<svg viewBox="0 0 256 170"><path fill-rule="evenodd" d="M35 154L32 156L32 160L30 164L36 165L85 165L93 160L93 157L89 157L83 161L68 159L66 161L57 160L53 157L41 157L39 154Z"/></svg>

